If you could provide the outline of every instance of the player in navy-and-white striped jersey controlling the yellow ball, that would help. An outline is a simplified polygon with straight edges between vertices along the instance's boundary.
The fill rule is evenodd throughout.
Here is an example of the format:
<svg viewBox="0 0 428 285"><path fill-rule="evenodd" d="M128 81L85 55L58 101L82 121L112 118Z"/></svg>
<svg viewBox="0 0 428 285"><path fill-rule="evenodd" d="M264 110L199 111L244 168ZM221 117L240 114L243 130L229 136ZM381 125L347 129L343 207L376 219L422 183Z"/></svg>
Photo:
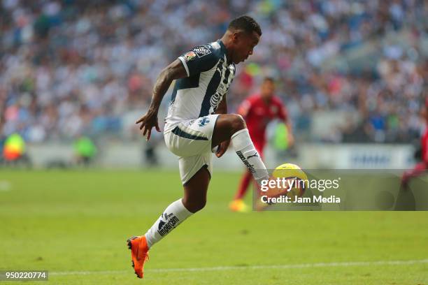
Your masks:
<svg viewBox="0 0 428 285"><path fill-rule="evenodd" d="M137 277L143 278L148 250L205 206L213 168L212 149L221 157L232 142L236 154L255 180L269 179L243 118L227 114L226 104L235 64L252 54L260 36L262 30L252 17L237 17L220 40L192 48L159 74L150 108L136 123L141 124L147 140L153 127L160 131L159 105L171 82L176 80L165 118L164 139L169 150L179 157L184 196L166 207L145 235L129 238L128 247Z"/></svg>

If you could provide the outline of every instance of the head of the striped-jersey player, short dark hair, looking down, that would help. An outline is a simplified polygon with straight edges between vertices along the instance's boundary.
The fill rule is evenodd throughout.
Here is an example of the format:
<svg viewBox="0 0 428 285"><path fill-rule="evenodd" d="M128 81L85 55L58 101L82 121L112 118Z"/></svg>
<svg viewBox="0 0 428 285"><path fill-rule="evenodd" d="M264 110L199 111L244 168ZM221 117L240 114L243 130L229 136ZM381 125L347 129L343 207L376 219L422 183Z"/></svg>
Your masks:
<svg viewBox="0 0 428 285"><path fill-rule="evenodd" d="M231 61L238 64L252 54L262 36L262 29L252 17L243 15L231 20L225 36L228 38Z"/></svg>

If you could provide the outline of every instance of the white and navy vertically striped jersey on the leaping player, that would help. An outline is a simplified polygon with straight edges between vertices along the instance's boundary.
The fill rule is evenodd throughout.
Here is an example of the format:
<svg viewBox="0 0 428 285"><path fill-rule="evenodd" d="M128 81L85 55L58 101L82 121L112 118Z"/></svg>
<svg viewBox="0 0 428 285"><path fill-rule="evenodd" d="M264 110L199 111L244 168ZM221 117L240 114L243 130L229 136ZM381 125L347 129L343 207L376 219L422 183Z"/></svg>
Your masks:
<svg viewBox="0 0 428 285"><path fill-rule="evenodd" d="M213 114L234 79L235 65L227 64L226 47L218 40L199 45L178 57L187 78L176 80L165 131L179 122Z"/></svg>

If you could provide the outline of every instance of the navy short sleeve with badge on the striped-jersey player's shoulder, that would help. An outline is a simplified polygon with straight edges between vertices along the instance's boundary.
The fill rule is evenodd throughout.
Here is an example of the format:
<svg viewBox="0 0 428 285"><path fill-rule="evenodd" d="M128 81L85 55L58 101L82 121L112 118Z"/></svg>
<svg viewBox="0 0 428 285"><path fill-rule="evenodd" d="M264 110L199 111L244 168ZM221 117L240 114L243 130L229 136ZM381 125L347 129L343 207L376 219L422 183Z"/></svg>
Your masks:
<svg viewBox="0 0 428 285"><path fill-rule="evenodd" d="M209 71L218 59L211 45L198 45L178 57L185 67L187 77Z"/></svg>

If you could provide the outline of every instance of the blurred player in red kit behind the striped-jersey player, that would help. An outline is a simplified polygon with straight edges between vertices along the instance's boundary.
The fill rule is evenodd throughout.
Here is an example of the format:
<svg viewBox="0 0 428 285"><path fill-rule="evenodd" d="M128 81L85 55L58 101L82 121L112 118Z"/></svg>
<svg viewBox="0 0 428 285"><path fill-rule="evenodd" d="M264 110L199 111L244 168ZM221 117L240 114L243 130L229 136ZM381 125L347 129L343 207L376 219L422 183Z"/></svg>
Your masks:
<svg viewBox="0 0 428 285"><path fill-rule="evenodd" d="M263 158L263 149L266 145L266 126L273 119L281 119L288 129L288 144L292 145L294 138L287 110L283 102L275 96L275 82L273 78L264 78L259 94L253 94L246 98L238 107L238 114L243 116L247 124L248 132L255 149ZM230 210L234 212L248 212L250 208L243 202L243 196L252 181L250 171L246 170L236 192L235 198L229 204Z"/></svg>

